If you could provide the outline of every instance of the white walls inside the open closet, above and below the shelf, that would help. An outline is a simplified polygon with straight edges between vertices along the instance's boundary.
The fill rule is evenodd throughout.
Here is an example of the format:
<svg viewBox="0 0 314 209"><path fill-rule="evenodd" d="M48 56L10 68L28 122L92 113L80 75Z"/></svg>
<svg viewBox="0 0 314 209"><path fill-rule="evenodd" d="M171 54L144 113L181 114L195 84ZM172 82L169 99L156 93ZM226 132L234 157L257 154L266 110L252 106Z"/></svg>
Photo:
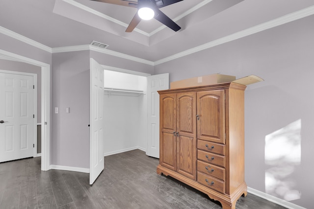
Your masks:
<svg viewBox="0 0 314 209"><path fill-rule="evenodd" d="M146 92L146 77L105 70L105 88ZM147 147L146 94L105 91L104 155Z"/></svg>

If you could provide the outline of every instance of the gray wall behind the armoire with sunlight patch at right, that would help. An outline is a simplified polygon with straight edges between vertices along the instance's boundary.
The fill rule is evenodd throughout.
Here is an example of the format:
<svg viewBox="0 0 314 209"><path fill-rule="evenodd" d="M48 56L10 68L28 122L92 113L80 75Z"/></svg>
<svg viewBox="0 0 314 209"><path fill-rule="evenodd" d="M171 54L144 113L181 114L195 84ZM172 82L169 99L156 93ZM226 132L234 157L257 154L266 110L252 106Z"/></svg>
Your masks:
<svg viewBox="0 0 314 209"><path fill-rule="evenodd" d="M312 15L155 67L155 74L170 72L170 81L218 72L262 77L264 82L245 92L245 179L249 187L265 192L265 172L271 168L277 181L268 193L284 199L289 187L301 193L290 202L305 208L313 208L314 194L313 23ZM301 121L301 130L293 135L287 129L295 121ZM265 153L265 137L282 129L286 134L277 137L277 144L273 141L271 153ZM301 162L277 156L271 162L274 166L265 163L265 156L288 152L299 136ZM292 146L291 156L298 149L297 143Z"/></svg>

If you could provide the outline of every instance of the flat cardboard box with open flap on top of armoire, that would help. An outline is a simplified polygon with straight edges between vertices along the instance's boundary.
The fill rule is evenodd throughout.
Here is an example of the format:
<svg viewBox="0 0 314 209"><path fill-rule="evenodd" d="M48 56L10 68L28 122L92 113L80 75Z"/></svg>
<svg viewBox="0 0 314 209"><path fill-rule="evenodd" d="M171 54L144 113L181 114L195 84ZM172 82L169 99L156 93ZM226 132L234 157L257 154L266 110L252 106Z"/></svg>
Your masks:
<svg viewBox="0 0 314 209"><path fill-rule="evenodd" d="M235 76L233 75L223 75L223 74L217 73L217 74L204 75L204 76L171 82L170 89L207 86L207 85L212 85L212 84L229 83L229 82L249 85L249 84L253 84L260 81L263 81L263 79L256 75L249 75L243 78L235 79Z"/></svg>

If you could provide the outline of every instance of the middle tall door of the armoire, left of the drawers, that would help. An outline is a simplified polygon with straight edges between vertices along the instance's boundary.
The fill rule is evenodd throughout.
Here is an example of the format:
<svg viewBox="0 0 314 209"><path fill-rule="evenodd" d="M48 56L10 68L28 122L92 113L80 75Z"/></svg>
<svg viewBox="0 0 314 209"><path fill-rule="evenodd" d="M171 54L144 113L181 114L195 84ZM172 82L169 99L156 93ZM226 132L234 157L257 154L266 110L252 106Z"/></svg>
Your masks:
<svg viewBox="0 0 314 209"><path fill-rule="evenodd" d="M177 171L196 180L196 93L177 94Z"/></svg>

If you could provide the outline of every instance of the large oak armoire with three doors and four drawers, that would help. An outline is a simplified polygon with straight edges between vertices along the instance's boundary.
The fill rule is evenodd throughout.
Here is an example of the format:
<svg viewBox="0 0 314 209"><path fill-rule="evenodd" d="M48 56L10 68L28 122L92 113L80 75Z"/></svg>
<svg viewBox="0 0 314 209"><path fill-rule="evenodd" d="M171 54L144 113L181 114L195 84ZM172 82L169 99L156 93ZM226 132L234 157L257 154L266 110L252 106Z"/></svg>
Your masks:
<svg viewBox="0 0 314 209"><path fill-rule="evenodd" d="M244 90L221 83L158 91L160 159L171 176L235 209L244 181Z"/></svg>

